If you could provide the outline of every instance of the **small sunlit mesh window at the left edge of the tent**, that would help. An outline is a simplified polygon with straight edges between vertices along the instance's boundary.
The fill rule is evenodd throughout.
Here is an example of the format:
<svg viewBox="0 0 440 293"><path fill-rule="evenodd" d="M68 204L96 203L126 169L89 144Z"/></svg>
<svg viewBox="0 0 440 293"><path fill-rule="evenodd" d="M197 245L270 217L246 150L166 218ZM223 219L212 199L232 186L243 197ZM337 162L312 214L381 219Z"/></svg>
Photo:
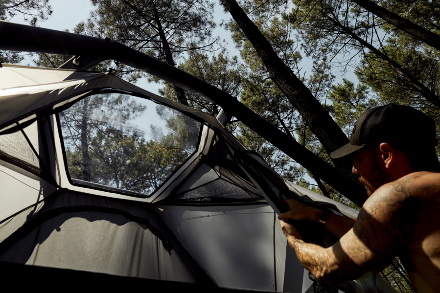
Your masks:
<svg viewBox="0 0 440 293"><path fill-rule="evenodd" d="M29 138L35 150L39 151L37 122L24 128L24 133ZM40 168L40 160L30 147L22 131L0 135L0 151L9 156L21 159L35 167Z"/></svg>

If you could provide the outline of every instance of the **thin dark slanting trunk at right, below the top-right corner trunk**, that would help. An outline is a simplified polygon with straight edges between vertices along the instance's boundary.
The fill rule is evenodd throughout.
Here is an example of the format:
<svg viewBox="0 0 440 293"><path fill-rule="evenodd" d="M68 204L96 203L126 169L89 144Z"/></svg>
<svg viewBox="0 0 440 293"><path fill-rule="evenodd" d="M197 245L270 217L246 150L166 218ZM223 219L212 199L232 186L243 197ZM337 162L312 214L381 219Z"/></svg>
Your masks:
<svg viewBox="0 0 440 293"><path fill-rule="evenodd" d="M412 76L409 72L407 72L400 64L397 62L394 62L393 60L388 57L386 53L381 52L376 47L368 43L367 41L363 40L361 37L356 35L354 32L352 32L347 26L342 25L338 21L328 18L331 22L333 22L337 27L339 27L342 31L342 33L346 34L353 40L358 41L361 45L368 48L371 52L373 52L377 57L381 58L385 63L388 63L397 73L403 76L409 83L411 83L414 86L414 90L423 95L426 100L431 102L433 105L440 108L440 98L433 93L431 90L429 90L427 87L425 87L421 82L419 82L414 76Z"/></svg>

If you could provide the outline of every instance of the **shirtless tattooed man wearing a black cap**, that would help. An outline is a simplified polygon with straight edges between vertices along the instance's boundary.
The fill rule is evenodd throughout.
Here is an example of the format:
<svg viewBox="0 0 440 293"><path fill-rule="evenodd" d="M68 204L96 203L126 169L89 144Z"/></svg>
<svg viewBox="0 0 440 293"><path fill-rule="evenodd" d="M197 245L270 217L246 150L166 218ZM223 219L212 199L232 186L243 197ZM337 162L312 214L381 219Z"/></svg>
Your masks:
<svg viewBox="0 0 440 293"><path fill-rule="evenodd" d="M319 280L340 283L385 269L398 256L418 293L440 291L440 166L434 121L406 106L373 108L357 120L350 143L332 158L353 157L352 173L369 198L357 219L287 200L279 219L319 222L340 240L329 248L281 228L301 264ZM326 218L326 219L325 219ZM323 225L323 224L322 224Z"/></svg>

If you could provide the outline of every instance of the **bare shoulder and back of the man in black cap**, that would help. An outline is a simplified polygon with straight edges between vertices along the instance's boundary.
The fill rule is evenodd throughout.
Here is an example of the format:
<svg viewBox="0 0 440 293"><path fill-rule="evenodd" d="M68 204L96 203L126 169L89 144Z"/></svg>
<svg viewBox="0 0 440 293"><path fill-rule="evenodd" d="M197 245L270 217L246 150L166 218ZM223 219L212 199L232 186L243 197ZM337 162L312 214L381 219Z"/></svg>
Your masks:
<svg viewBox="0 0 440 293"><path fill-rule="evenodd" d="M382 227L390 227L394 250L416 291L436 292L434 288L440 288L440 173L415 172L387 183L366 205L375 217L379 215Z"/></svg>

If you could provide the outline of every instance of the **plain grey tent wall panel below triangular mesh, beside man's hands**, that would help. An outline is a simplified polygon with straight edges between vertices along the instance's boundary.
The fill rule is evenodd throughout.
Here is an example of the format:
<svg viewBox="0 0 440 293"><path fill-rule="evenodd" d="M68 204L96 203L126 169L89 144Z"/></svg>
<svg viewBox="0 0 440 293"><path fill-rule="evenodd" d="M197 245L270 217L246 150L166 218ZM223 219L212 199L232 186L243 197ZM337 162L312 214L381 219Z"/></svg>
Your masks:
<svg viewBox="0 0 440 293"><path fill-rule="evenodd" d="M283 279L284 275L276 277L274 256L285 257L286 240L279 231L274 233L280 227L270 206L157 208L184 248L219 286L275 291L276 280ZM274 251L274 236L284 242L279 251ZM282 290L282 284L278 288Z"/></svg>

